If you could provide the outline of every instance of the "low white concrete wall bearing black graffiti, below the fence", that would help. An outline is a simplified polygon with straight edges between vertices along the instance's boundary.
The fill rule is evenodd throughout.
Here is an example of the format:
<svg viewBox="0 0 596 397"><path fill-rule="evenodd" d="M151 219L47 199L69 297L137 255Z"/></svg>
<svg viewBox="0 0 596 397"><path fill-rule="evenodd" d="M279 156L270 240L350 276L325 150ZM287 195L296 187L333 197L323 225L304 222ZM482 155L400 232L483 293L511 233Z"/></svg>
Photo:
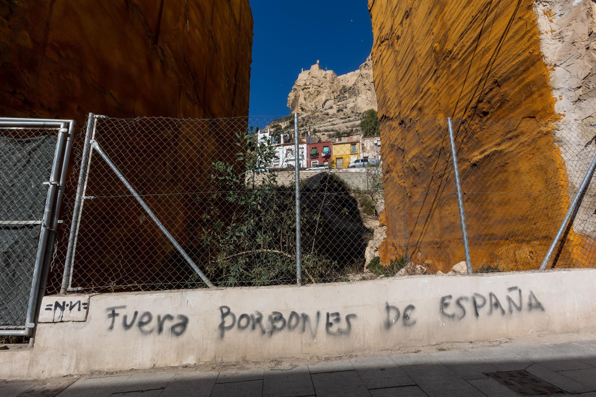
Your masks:
<svg viewBox="0 0 596 397"><path fill-rule="evenodd" d="M0 351L0 378L595 331L595 282L574 269L98 294L86 321L39 324L35 348Z"/></svg>

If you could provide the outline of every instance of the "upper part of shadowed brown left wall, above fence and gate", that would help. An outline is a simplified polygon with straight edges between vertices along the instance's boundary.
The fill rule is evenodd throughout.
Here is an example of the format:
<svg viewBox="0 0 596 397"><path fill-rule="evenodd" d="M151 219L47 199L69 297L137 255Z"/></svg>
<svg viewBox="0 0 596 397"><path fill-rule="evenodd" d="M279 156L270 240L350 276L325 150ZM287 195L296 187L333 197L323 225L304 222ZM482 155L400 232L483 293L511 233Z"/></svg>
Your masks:
<svg viewBox="0 0 596 397"><path fill-rule="evenodd" d="M231 117L249 107L248 0L0 5L0 114Z"/></svg>

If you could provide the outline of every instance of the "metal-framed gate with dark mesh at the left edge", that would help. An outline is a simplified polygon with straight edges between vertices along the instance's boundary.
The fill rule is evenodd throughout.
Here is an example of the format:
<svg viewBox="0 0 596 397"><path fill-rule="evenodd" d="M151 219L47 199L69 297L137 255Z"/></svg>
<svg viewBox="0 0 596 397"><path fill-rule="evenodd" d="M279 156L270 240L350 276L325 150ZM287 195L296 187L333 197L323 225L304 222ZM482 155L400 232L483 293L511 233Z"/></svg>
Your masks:
<svg viewBox="0 0 596 397"><path fill-rule="evenodd" d="M0 335L33 334L74 130L75 120L0 117Z"/></svg>

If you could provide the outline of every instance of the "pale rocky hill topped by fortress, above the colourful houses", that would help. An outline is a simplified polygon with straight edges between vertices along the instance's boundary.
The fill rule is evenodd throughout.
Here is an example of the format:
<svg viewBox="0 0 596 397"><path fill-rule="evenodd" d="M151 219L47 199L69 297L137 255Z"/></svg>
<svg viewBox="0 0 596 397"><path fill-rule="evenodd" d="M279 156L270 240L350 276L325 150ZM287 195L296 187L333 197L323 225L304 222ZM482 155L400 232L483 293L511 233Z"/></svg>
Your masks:
<svg viewBox="0 0 596 397"><path fill-rule="evenodd" d="M340 76L323 70L316 61L298 75L288 95L288 107L311 126L319 141L358 134L364 112L377 110L371 57L358 70Z"/></svg>

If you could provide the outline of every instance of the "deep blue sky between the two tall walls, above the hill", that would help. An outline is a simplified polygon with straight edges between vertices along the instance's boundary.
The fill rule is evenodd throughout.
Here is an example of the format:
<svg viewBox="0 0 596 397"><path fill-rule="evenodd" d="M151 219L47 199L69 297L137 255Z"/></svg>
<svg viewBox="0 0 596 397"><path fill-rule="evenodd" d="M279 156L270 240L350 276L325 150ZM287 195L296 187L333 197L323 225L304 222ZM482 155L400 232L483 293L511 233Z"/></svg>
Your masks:
<svg viewBox="0 0 596 397"><path fill-rule="evenodd" d="M316 60L343 75L358 69L373 46L367 0L250 0L253 63L250 115L290 113L288 94Z"/></svg>

